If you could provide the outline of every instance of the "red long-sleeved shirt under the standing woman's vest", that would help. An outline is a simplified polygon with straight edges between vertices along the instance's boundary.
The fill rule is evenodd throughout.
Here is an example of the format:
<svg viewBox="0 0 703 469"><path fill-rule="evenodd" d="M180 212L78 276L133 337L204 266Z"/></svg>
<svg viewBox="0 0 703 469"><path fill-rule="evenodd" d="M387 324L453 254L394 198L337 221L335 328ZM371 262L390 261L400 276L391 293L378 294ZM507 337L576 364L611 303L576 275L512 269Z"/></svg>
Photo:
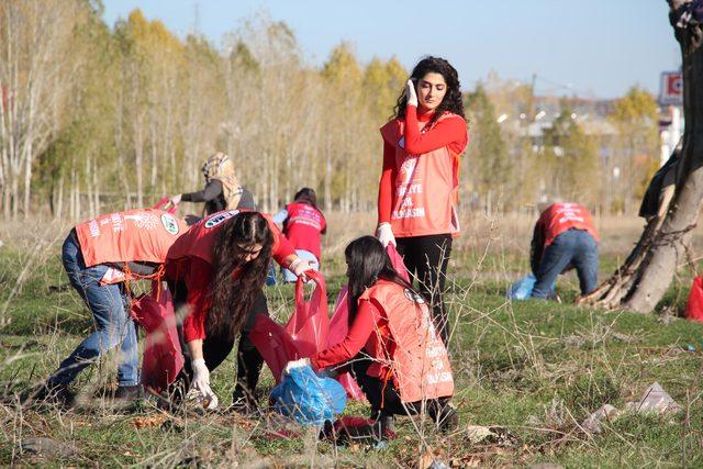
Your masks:
<svg viewBox="0 0 703 469"><path fill-rule="evenodd" d="M411 155L422 155L443 147L459 155L469 143L464 119L445 119L425 133L420 132L419 122L429 122L434 112L417 113L417 108L405 108L405 150ZM378 222L390 223L395 186L395 147L383 141L383 168L378 189Z"/></svg>

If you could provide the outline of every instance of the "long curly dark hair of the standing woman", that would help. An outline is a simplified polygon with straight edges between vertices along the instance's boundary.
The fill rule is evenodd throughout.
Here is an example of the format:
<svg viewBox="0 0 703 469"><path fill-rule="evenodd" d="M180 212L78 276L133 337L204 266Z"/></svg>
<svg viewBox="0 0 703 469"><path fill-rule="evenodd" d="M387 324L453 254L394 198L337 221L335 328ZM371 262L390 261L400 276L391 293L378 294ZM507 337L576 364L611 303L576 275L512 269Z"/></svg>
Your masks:
<svg viewBox="0 0 703 469"><path fill-rule="evenodd" d="M444 99L435 110L434 115L432 116L431 124L433 124L445 111L453 112L461 118L464 115L464 101L461 101L461 83L459 83L459 74L457 74L456 68L451 66L447 60L442 57L433 57L427 56L420 60L415 68L413 68L413 72L410 75L410 78L416 83L422 80L427 74L439 74L444 77L445 82L447 83L447 92L444 96ZM400 94L398 98L398 103L395 104L395 118L397 119L405 119L405 107L406 98L405 91ZM466 118L465 118L466 119Z"/></svg>

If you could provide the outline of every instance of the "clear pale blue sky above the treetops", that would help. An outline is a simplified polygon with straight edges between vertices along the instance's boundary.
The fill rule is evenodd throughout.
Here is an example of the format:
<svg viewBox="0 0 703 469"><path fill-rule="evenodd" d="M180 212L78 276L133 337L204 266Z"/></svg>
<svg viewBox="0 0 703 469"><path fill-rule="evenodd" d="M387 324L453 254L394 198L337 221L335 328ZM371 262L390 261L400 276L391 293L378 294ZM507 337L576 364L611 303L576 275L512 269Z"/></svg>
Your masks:
<svg viewBox="0 0 703 469"><path fill-rule="evenodd" d="M312 64L342 41L360 60L397 56L408 68L443 56L465 89L490 70L538 93L614 98L633 85L655 94L659 74L680 66L665 0L103 0L108 24L135 8L183 36L196 24L214 44L246 18L284 21ZM196 9L196 5L198 8ZM567 88L568 86L568 88Z"/></svg>

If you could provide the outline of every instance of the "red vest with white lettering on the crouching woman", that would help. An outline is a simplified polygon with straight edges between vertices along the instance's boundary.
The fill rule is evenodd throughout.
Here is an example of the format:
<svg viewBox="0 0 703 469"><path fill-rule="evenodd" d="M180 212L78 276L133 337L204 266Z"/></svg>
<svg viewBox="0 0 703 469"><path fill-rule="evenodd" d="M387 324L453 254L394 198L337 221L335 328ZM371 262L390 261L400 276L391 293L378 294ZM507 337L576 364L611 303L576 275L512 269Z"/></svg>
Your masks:
<svg viewBox="0 0 703 469"><path fill-rule="evenodd" d="M375 359L369 376L387 379L384 370L390 370L403 402L453 395L447 349L424 300L398 283L379 280L359 301L371 301L387 320L366 345Z"/></svg>

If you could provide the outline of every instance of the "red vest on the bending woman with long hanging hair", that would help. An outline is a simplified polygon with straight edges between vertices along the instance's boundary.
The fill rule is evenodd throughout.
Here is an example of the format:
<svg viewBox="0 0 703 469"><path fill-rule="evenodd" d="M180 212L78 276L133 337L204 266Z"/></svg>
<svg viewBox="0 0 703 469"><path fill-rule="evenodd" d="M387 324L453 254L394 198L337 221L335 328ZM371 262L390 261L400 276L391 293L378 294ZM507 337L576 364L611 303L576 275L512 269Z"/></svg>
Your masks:
<svg viewBox="0 0 703 469"><path fill-rule="evenodd" d="M187 260L193 257L199 257L205 263L212 265L212 255L214 250L214 243L217 238L217 232L224 222L232 219L239 212L248 212L248 210L224 210L222 212L213 213L202 219L200 222L191 226L191 228L174 243L168 250L166 260L168 263L178 263ZM280 239L280 231L276 224L271 221L270 216L261 213L268 221L268 225L274 232L274 246L271 252L276 253Z"/></svg>

